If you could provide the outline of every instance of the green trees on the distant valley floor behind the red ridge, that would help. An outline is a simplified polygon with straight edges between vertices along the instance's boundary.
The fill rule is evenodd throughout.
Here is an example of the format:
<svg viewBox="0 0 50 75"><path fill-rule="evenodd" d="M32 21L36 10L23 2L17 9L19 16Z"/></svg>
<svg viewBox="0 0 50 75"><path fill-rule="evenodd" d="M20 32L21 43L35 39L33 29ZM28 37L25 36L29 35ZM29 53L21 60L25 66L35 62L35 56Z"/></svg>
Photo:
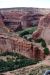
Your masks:
<svg viewBox="0 0 50 75"><path fill-rule="evenodd" d="M32 41L31 35L32 35L33 31L35 31L35 29L36 29L36 27L24 29L19 33L19 36L25 38L28 41Z"/></svg>

